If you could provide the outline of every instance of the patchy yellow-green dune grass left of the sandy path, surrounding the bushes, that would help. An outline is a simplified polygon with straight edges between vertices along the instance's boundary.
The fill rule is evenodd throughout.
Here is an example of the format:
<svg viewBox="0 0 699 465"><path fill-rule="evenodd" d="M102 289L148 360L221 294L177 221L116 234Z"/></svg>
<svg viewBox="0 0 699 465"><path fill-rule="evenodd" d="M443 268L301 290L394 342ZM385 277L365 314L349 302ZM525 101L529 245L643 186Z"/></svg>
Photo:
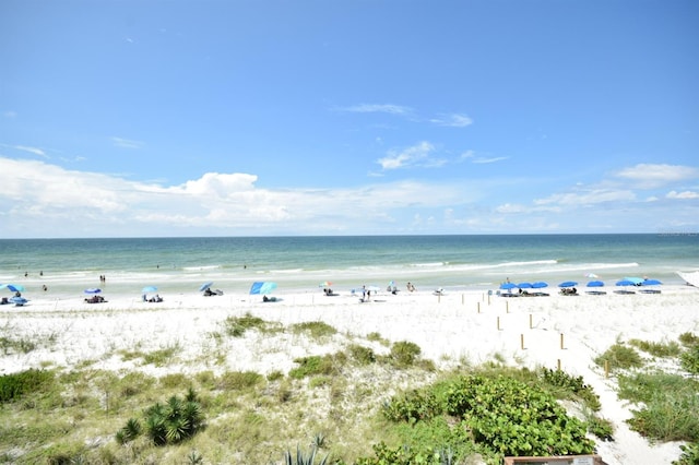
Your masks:
<svg viewBox="0 0 699 465"><path fill-rule="evenodd" d="M246 331L275 327L276 334L301 332L319 341L335 333L332 326L316 322L284 330L261 320L242 321ZM435 415L410 426L378 414L406 392L422 389L430 397L443 392L445 383L464 375L511 380L505 385L514 383L546 392L550 398L574 401L588 412L582 431L612 437L609 426L594 414L599 408L594 393L579 377L508 367L497 358L466 371L437 372L420 357L420 347L410 341L393 343L387 354L377 356L369 345L379 339L355 338L343 350L298 358L288 373L276 371L266 377L252 371L215 374L203 370L158 378L138 370L115 373L90 367L23 372L10 378L42 377L46 381L31 382L31 390L17 391L3 402L3 416L12 421L5 421L8 426L0 431L1 453L5 462L20 464L281 463L285 453L298 446L328 456L328 463L372 464L381 457L396 457L401 444L410 443L413 451L433 448L440 460L461 461L452 463L473 457L497 463L502 454L466 441L459 432L463 430L454 429L453 415ZM176 362L179 348L171 344L129 355L161 366ZM190 438L156 441L153 434L149 439L147 433L134 432L150 428L152 419L144 412L153 415L154 405L167 405L190 391L198 393L205 418Z"/></svg>

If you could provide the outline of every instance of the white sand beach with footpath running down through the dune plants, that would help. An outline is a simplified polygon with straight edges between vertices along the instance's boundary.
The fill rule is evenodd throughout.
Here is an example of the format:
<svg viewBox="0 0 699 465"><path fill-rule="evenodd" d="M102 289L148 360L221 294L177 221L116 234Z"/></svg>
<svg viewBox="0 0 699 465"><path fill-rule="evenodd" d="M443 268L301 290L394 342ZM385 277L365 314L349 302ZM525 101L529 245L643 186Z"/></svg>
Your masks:
<svg viewBox="0 0 699 465"><path fill-rule="evenodd" d="M699 334L699 288L663 286L660 294L503 298L487 291L453 291L442 296L431 290L378 293L359 302L350 293L328 297L320 290L284 294L275 302L260 296L201 294L163 295L163 302L143 302L140 296L105 295L103 303L48 295L27 296L24 307L0 307L0 329L15 338L44 341L27 354L0 354L0 374L28 368L70 368L93 361L95 368L168 372L254 370L283 372L293 359L332 347L316 347L301 336L265 339L254 335L230 342L227 365L202 358L212 334L230 315L251 313L283 324L323 321L339 334L372 332L395 341L417 344L423 356L439 368L459 360L472 365L503 358L512 366L546 366L582 375L600 395L600 415L613 421L614 442L600 442L599 453L609 465L670 464L679 454L679 443L650 444L625 424L629 406L617 400L613 379L605 378L593 358L618 341L639 338L676 341L685 332ZM154 367L125 361L121 349L153 350L177 344L177 365ZM337 344L341 344L340 338Z"/></svg>

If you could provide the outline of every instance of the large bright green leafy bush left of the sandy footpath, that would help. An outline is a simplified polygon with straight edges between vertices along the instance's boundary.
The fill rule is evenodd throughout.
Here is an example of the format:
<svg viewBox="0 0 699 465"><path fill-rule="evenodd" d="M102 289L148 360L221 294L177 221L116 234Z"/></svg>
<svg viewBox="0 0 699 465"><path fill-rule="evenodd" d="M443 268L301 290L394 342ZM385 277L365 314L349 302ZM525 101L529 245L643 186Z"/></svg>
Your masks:
<svg viewBox="0 0 699 465"><path fill-rule="evenodd" d="M459 377L398 396L383 413L411 424L446 415L500 457L585 454L594 449L585 426L550 394L511 378Z"/></svg>

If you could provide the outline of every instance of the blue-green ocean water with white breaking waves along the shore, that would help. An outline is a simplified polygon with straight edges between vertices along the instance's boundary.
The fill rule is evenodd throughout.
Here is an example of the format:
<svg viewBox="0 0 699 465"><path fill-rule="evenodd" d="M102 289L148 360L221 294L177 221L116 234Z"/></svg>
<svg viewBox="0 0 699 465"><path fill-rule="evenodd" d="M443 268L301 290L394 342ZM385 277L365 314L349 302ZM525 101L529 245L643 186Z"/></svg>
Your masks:
<svg viewBox="0 0 699 465"><path fill-rule="evenodd" d="M274 281L279 293L336 290L390 281L418 289L497 288L509 278L556 286L594 273L614 285L624 276L683 284L677 271L699 269L697 235L511 235L0 240L0 283L57 295L84 288L138 295L197 293L201 284L247 293ZM99 276L106 276L100 283Z"/></svg>

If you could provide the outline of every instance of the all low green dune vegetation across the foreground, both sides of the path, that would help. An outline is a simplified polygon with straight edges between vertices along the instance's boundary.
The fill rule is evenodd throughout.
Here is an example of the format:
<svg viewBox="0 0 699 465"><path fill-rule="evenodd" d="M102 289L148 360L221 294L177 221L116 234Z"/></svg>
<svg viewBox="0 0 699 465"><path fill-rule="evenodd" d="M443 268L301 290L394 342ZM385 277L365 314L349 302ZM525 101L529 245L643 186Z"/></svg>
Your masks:
<svg viewBox="0 0 699 465"><path fill-rule="evenodd" d="M256 332L303 335L313 347L342 339L322 322L284 327L250 314L230 317L202 359L235 357L222 349L226 338ZM582 377L497 358L441 372L410 341L378 333L342 341L340 350L269 373L154 377L84 365L0 377L0 463L499 464L505 455L591 453L594 441L614 440ZM688 442L677 465L699 456L697 347L687 333L675 343L617 342L595 359L612 368L619 396L638 405L631 428ZM120 355L167 367L181 349L175 343ZM685 373L644 368L652 358L676 360Z"/></svg>

